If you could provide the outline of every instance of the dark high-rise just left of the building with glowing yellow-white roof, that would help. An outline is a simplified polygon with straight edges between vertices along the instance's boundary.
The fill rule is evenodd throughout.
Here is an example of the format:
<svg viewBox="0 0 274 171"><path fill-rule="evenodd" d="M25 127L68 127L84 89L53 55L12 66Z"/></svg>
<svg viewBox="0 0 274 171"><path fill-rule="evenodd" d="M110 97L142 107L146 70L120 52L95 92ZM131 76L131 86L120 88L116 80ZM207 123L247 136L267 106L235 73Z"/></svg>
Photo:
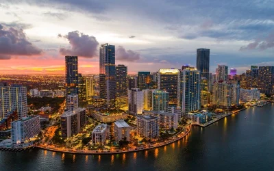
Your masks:
<svg viewBox="0 0 274 171"><path fill-rule="evenodd" d="M137 87L140 90L153 89L154 88L153 75L151 75L150 72L147 72L147 71L138 72Z"/></svg>

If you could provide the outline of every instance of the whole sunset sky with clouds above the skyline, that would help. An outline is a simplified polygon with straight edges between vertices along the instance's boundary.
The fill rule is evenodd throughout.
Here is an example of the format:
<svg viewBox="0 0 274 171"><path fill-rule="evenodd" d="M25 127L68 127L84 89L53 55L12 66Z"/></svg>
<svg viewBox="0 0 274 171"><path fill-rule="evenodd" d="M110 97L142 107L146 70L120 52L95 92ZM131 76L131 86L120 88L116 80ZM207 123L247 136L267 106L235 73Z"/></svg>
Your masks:
<svg viewBox="0 0 274 171"><path fill-rule="evenodd" d="M99 73L100 44L116 46L129 73L196 66L210 49L210 71L274 66L274 1L0 0L0 74Z"/></svg>

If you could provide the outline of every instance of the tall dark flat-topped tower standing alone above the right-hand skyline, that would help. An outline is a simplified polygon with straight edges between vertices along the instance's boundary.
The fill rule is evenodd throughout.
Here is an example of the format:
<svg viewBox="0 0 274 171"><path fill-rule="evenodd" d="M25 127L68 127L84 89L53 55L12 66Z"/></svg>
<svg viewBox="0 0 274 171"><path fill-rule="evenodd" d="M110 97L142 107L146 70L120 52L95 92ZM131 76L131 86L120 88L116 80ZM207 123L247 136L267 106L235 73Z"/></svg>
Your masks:
<svg viewBox="0 0 274 171"><path fill-rule="evenodd" d="M210 72L210 49L197 49L196 68L201 72L201 77L209 80Z"/></svg>

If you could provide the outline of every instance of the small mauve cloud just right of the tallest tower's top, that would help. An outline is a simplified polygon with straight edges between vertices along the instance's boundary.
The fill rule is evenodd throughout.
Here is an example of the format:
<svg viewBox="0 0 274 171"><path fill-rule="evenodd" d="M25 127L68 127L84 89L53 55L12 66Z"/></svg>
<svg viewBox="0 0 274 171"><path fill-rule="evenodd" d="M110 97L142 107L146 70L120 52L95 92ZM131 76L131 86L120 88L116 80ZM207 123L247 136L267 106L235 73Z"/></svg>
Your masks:
<svg viewBox="0 0 274 171"><path fill-rule="evenodd" d="M116 48L116 60L134 62L140 60L140 54L132 50L125 50L124 47Z"/></svg>

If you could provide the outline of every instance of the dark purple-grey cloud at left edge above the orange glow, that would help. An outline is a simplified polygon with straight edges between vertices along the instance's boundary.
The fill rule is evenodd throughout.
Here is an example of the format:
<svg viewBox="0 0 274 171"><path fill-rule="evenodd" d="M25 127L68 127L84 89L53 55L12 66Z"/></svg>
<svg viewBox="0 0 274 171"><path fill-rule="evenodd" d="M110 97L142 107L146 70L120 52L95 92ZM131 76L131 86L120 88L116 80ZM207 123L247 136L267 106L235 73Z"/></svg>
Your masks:
<svg viewBox="0 0 274 171"><path fill-rule="evenodd" d="M0 25L0 59L8 60L11 55L40 55L42 49L27 40L23 29Z"/></svg>

